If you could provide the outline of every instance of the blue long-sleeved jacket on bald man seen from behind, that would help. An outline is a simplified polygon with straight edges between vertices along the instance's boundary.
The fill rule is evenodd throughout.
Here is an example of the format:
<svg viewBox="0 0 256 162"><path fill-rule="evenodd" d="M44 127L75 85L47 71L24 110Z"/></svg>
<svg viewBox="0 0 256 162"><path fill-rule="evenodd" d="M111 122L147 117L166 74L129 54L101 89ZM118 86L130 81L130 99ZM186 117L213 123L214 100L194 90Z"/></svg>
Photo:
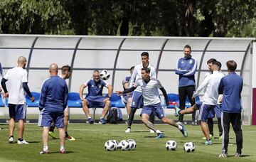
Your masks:
<svg viewBox="0 0 256 162"><path fill-rule="evenodd" d="M59 76L51 76L43 82L39 109L60 109L63 111L68 104L68 86Z"/></svg>

